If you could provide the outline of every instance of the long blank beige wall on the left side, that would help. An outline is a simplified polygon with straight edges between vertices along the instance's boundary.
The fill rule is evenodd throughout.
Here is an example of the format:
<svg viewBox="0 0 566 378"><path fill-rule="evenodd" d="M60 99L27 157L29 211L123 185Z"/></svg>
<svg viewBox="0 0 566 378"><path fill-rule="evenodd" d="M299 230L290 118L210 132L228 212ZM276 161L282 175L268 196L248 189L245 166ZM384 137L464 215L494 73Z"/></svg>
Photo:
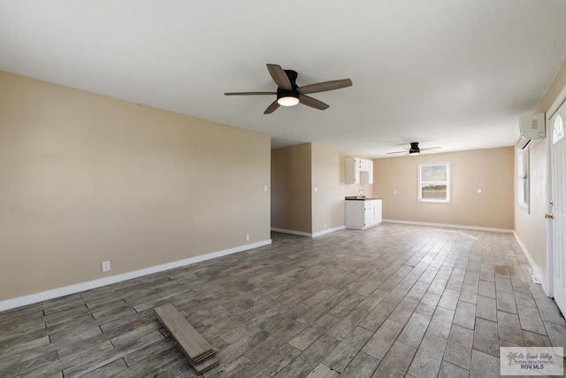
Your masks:
<svg viewBox="0 0 566 378"><path fill-rule="evenodd" d="M269 240L270 148L0 72L0 300Z"/></svg>

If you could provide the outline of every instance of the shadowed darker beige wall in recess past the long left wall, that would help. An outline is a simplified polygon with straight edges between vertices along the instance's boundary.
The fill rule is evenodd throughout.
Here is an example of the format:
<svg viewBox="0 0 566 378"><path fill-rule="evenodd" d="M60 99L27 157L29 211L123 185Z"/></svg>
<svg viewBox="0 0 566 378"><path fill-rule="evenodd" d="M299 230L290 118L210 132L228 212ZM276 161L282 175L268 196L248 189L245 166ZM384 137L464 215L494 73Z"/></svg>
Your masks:
<svg viewBox="0 0 566 378"><path fill-rule="evenodd" d="M312 232L311 144L272 150L272 228Z"/></svg>

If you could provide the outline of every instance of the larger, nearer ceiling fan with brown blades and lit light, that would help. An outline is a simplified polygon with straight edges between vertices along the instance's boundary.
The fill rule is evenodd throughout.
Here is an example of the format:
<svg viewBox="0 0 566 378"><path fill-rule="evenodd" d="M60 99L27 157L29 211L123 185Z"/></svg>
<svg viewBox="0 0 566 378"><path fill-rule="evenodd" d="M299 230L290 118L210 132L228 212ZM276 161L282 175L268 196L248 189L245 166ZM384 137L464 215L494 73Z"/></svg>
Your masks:
<svg viewBox="0 0 566 378"><path fill-rule="evenodd" d="M275 112L279 106L294 106L303 104L311 108L324 111L330 105L323 103L311 96L310 93L325 92L327 90L340 89L352 85L349 79L317 82L316 84L297 86L297 73L293 70L284 70L279 65L267 64L267 71L272 75L273 81L277 84L277 92L229 92L226 96L256 96L256 95L277 95L275 101L265 109L264 114Z"/></svg>

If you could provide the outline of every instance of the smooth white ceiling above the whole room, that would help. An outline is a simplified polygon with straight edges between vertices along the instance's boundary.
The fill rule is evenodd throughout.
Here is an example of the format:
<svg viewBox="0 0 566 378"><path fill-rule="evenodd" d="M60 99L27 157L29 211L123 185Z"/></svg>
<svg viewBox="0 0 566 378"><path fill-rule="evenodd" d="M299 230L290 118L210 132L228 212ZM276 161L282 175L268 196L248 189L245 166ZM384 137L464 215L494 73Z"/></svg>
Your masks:
<svg viewBox="0 0 566 378"><path fill-rule="evenodd" d="M564 0L0 0L0 70L371 158L514 144L565 51ZM275 90L266 63L354 84L223 95Z"/></svg>

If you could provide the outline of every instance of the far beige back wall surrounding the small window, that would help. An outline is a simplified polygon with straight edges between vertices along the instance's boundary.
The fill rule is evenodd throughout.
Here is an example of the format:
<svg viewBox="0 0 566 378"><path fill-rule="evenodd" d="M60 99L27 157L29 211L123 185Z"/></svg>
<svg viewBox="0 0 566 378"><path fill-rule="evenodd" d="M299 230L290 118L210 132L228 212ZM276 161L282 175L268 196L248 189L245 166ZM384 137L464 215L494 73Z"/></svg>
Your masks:
<svg viewBox="0 0 566 378"><path fill-rule="evenodd" d="M510 230L513 158L513 147L503 147L375 159L374 194L383 198L386 220ZM442 162L450 163L450 203L417 202L417 165Z"/></svg>

